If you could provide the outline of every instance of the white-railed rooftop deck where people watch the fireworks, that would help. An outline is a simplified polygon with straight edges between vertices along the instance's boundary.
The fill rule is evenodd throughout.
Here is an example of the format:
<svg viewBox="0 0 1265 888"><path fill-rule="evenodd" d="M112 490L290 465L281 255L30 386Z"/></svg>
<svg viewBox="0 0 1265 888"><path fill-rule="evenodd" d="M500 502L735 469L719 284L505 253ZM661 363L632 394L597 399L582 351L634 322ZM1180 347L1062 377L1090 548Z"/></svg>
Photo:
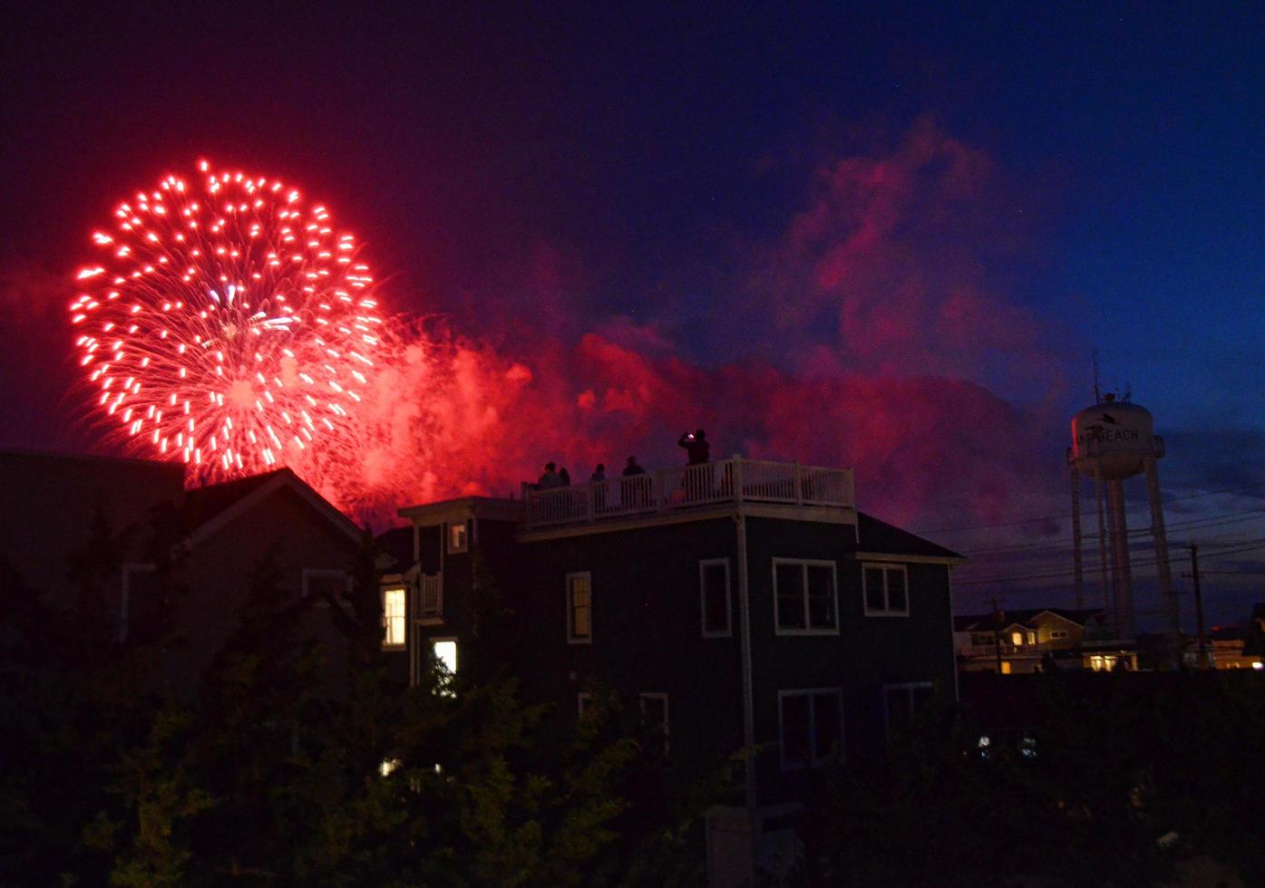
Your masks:
<svg viewBox="0 0 1265 888"><path fill-rule="evenodd" d="M854 508L849 469L735 456L550 490L525 489L529 531L651 515L724 503Z"/></svg>

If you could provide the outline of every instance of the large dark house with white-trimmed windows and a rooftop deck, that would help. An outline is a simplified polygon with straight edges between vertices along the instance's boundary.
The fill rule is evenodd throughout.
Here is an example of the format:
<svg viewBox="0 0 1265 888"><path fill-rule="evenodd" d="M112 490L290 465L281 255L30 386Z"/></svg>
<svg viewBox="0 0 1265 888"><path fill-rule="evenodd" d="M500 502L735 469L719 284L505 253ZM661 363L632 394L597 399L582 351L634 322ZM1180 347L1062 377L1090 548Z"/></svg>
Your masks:
<svg viewBox="0 0 1265 888"><path fill-rule="evenodd" d="M722 883L722 861L740 879L784 837L773 821L813 768L883 755L889 725L955 693L963 560L858 512L848 470L735 457L524 494L400 509L412 551L382 541L411 561L383 582L385 613L405 611L387 644L414 673L459 669L496 597L529 700L574 719L614 691L683 769L758 748L712 813Z"/></svg>

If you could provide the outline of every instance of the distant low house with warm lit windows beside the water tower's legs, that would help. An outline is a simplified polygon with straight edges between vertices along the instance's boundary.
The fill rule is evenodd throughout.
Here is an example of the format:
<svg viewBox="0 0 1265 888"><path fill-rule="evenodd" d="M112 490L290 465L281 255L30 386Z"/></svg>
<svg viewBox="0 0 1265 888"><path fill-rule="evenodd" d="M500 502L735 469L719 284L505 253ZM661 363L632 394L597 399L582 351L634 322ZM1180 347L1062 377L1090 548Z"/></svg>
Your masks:
<svg viewBox="0 0 1265 888"><path fill-rule="evenodd" d="M963 672L1026 675L1060 669L1137 668L1132 644L1113 638L1103 610L1035 608L954 618Z"/></svg>

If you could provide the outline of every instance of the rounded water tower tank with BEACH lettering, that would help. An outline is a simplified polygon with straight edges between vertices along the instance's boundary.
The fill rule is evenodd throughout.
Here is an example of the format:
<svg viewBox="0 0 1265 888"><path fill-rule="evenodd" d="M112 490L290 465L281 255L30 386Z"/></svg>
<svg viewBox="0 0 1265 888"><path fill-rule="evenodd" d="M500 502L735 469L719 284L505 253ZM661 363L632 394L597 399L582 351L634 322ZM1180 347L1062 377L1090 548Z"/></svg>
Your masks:
<svg viewBox="0 0 1265 888"><path fill-rule="evenodd" d="M1155 419L1145 407L1107 395L1071 417L1071 462L1089 477L1118 480L1146 470L1147 456L1163 456Z"/></svg>

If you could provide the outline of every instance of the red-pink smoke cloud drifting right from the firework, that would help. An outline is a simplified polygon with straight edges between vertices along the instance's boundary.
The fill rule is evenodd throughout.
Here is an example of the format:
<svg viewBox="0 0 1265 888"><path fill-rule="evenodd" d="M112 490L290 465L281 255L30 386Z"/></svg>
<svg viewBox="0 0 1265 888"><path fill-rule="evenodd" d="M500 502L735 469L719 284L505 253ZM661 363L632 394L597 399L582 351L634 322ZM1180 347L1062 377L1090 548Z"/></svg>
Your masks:
<svg viewBox="0 0 1265 888"><path fill-rule="evenodd" d="M927 120L891 152L822 164L784 231L736 263L743 302L722 317L762 357L720 366L683 357L653 306L586 317L582 265L539 246L497 326L398 331L363 453L328 491L381 523L517 491L546 460L577 481L629 455L674 464L677 435L703 426L717 459L853 466L861 507L903 523L1059 512L1034 480L1042 453L1059 476L1056 398L1018 405L983 379L998 356L1016 379L1049 375L1042 320L989 284L1012 237L999 191L984 152Z"/></svg>

